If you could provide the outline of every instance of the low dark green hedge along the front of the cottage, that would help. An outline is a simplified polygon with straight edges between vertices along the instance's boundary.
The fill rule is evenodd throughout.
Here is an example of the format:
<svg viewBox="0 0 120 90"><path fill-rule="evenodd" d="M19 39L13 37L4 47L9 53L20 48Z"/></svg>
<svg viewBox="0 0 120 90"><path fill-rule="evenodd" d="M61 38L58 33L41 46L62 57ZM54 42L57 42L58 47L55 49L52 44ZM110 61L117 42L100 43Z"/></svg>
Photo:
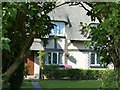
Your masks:
<svg viewBox="0 0 120 90"><path fill-rule="evenodd" d="M43 74L47 79L98 80L106 70L64 69L59 65L45 65Z"/></svg>

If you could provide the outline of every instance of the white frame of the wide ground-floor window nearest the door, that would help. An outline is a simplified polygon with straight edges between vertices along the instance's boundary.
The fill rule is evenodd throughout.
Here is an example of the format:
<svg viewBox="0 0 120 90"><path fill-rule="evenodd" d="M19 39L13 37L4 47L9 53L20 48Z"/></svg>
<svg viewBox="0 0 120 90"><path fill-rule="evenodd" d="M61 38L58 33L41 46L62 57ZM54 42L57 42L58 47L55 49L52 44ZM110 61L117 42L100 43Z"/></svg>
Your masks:
<svg viewBox="0 0 120 90"><path fill-rule="evenodd" d="M61 53L61 52L47 52L47 53L51 53L51 64L54 64L53 63L53 53L57 53L57 64L55 64L55 65L64 65L64 61L63 61L64 57L62 57L62 64L59 64L59 62L58 62L59 61L59 53ZM47 61L47 62L45 62L46 65L51 65L51 64L49 64L48 56L46 56L46 61Z"/></svg>

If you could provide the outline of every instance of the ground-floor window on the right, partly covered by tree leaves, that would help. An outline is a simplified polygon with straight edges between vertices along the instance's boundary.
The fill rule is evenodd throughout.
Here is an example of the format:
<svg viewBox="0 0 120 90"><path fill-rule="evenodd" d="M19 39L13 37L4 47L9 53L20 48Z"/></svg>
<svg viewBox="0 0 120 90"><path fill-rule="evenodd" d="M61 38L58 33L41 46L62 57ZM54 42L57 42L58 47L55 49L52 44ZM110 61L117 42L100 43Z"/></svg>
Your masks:
<svg viewBox="0 0 120 90"><path fill-rule="evenodd" d="M99 58L98 58L98 54L95 52L91 52L91 66L99 66L100 62L99 62Z"/></svg>

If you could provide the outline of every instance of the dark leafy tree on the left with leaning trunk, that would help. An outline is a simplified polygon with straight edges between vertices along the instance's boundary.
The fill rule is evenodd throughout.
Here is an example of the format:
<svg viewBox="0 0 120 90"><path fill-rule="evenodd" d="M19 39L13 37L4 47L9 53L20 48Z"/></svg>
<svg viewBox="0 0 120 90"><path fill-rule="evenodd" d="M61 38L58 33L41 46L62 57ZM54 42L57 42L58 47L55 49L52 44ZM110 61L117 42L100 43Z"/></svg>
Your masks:
<svg viewBox="0 0 120 90"><path fill-rule="evenodd" d="M3 82L9 81L11 87L15 86L15 81L19 83L19 77L23 78L24 60L33 39L42 38L50 33L51 22L47 14L54 7L53 2L2 3L2 35L10 39L3 40L5 44L2 42L2 73L5 77ZM10 50L6 50L4 47ZM13 82L14 84L12 84ZM20 85L16 86L17 90L19 87Z"/></svg>

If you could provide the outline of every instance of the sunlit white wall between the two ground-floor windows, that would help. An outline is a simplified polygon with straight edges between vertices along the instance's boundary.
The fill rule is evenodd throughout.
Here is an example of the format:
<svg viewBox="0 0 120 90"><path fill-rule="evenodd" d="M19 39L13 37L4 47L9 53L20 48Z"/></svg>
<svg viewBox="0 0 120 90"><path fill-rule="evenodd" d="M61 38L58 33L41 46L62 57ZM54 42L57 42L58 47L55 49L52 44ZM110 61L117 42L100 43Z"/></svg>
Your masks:
<svg viewBox="0 0 120 90"><path fill-rule="evenodd" d="M87 44L82 41L68 41L68 64L72 65L72 68L82 68L88 69L89 68L89 58L88 52L79 51L79 49L89 49Z"/></svg>

